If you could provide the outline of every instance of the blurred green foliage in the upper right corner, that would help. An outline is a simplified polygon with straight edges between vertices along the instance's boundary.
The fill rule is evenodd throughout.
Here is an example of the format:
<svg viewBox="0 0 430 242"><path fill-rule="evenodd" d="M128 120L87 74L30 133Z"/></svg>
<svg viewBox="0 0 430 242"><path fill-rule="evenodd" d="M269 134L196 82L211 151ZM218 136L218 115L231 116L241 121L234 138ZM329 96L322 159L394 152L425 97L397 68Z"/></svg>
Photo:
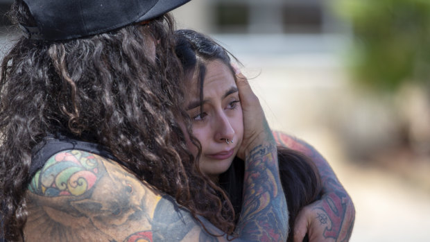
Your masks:
<svg viewBox="0 0 430 242"><path fill-rule="evenodd" d="M354 78L377 90L429 87L430 0L334 0L354 34Z"/></svg>

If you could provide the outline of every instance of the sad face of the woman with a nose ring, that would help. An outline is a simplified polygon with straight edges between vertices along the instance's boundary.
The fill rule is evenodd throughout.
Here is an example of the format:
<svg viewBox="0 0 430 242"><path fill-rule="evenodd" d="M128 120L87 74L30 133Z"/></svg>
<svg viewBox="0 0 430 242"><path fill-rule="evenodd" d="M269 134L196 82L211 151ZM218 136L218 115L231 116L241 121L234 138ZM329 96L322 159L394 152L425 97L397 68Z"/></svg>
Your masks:
<svg viewBox="0 0 430 242"><path fill-rule="evenodd" d="M193 135L202 145L200 169L216 177L227 171L241 146L243 119L239 92L230 68L221 60L210 61L206 65L203 110L200 112L200 90L196 79L192 80L186 109L193 120ZM196 146L188 143L196 155Z"/></svg>

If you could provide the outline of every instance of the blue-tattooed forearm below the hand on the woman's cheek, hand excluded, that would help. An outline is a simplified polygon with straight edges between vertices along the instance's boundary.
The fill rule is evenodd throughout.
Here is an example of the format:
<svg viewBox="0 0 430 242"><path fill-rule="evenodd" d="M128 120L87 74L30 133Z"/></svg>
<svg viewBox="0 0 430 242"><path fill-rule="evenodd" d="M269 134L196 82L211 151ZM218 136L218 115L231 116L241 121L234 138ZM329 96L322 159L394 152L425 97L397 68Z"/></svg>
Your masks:
<svg viewBox="0 0 430 242"><path fill-rule="evenodd" d="M257 146L246 163L243 209L237 230L252 241L285 241L288 211L279 183L275 146Z"/></svg>

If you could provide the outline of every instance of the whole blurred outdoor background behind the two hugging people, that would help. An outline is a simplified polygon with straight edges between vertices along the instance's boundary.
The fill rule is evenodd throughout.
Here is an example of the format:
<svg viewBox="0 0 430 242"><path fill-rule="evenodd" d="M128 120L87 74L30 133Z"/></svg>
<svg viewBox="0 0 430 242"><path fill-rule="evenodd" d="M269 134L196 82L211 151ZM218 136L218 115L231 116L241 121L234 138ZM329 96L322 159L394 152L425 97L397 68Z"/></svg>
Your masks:
<svg viewBox="0 0 430 242"><path fill-rule="evenodd" d="M193 0L173 14L239 58L272 128L329 160L356 208L350 241L430 241L430 1Z"/></svg>

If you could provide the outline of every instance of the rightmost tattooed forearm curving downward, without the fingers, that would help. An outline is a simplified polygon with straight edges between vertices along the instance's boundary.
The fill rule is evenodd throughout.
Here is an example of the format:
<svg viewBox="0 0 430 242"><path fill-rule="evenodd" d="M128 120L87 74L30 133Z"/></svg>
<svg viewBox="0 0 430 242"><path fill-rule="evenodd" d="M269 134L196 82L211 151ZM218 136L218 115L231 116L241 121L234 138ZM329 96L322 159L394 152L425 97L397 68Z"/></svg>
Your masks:
<svg viewBox="0 0 430 242"><path fill-rule="evenodd" d="M317 211L318 221L326 222L322 223L326 225L323 236L335 241L348 241L354 227L354 205L328 162L315 148L300 139L281 132L273 132L273 135L278 145L298 150L316 164L322 182L322 197L313 210Z"/></svg>

